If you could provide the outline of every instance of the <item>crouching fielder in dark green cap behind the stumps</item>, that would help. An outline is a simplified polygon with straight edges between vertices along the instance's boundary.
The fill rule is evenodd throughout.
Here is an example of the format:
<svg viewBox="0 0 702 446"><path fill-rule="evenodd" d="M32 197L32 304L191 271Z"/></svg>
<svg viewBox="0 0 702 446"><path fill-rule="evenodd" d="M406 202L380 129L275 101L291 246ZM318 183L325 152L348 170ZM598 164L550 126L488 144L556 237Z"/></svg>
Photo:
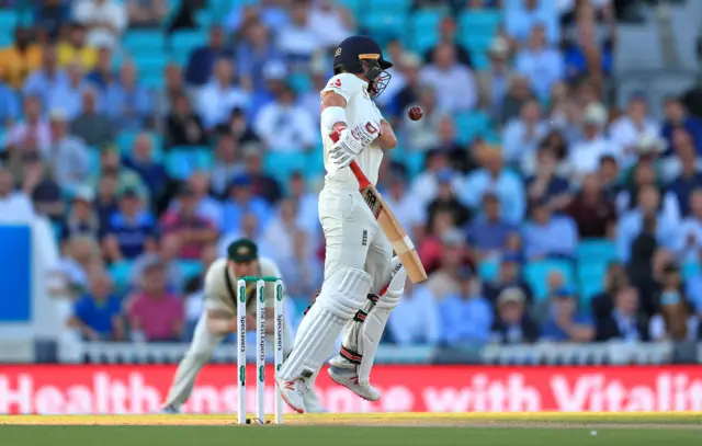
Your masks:
<svg viewBox="0 0 702 446"><path fill-rule="evenodd" d="M275 263L259 258L258 247L249 239L234 241L227 248L227 258L218 259L210 266L205 275L205 311L200 317L192 344L180 362L168 399L163 404L165 413L179 413L181 405L190 398L197 374L210 361L215 347L228 333L237 332L237 278L242 276L281 277ZM265 284L267 296L275 295L275 284ZM256 323L256 283L247 284L247 327L254 330ZM273 336L274 299L267 299L267 330ZM283 323L283 354L290 354L293 333L290 323ZM305 393L305 404L312 412L324 410L314 390Z"/></svg>

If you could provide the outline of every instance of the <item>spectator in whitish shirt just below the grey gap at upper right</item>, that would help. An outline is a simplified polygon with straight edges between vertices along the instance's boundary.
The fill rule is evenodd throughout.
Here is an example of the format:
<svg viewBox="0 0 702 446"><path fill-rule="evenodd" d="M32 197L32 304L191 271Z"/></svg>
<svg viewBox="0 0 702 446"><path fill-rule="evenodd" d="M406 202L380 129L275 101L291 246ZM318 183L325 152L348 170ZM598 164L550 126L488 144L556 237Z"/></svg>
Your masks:
<svg viewBox="0 0 702 446"><path fill-rule="evenodd" d="M660 126L647 116L647 112L646 99L636 94L630 101L626 114L610 125L610 139L620 148L620 159L624 168L636 162L636 144L643 136L660 136Z"/></svg>

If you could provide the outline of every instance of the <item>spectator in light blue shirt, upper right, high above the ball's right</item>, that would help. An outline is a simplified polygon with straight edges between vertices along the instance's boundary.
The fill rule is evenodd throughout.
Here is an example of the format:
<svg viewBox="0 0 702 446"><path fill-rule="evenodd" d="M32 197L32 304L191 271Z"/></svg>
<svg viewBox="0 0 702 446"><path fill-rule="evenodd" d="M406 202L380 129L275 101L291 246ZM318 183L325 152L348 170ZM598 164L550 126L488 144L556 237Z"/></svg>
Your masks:
<svg viewBox="0 0 702 446"><path fill-rule="evenodd" d="M551 87L564 78L563 55L547 45L543 25L531 28L529 43L517 53L514 67L529 78L541 100L546 100Z"/></svg>

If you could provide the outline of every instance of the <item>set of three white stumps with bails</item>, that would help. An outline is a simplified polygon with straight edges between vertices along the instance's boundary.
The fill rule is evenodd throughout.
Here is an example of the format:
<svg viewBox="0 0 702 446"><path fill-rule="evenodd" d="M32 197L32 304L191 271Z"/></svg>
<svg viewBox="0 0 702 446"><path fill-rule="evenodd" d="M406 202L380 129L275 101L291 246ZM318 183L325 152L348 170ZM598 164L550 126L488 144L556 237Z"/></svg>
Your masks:
<svg viewBox="0 0 702 446"><path fill-rule="evenodd" d="M239 332L237 333L239 350L237 354L237 369L239 382L239 412L237 422L246 424L246 284L256 283L256 420L265 423L265 284L275 284L275 300L273 302L273 318L275 321L274 339L274 365L278 373L283 364L283 281L272 276L245 276L237 281L238 302L237 319ZM275 389L275 424L283 424L283 397L281 389L273 382Z"/></svg>

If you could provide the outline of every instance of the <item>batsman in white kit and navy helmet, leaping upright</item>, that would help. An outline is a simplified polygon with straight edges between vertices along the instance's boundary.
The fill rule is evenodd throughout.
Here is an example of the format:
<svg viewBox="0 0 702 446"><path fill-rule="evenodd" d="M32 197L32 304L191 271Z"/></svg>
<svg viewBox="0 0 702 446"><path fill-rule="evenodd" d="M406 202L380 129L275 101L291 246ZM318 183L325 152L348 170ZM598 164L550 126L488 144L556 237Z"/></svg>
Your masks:
<svg viewBox="0 0 702 446"><path fill-rule="evenodd" d="M299 325L293 351L276 375L283 399L298 413L310 410L306 401L313 379L332 355L335 340L347 324L347 341L353 342L344 344L342 353L348 355L332 359L329 375L361 398L380 398L370 385L370 369L387 318L377 318L369 329L371 317L363 323L359 310L370 305L370 299L381 306L376 296L390 279L393 247L359 193L349 164L356 161L375 184L383 150L397 145L393 128L373 102L387 87L390 76L385 70L392 66L373 38L349 37L337 48L335 76L320 93L327 171L319 194L319 220L326 239L325 281ZM336 144L330 138L332 133L339 136ZM384 301L382 306L394 304ZM362 323L359 336L351 330L354 323ZM358 342L348 339L351 335Z"/></svg>

